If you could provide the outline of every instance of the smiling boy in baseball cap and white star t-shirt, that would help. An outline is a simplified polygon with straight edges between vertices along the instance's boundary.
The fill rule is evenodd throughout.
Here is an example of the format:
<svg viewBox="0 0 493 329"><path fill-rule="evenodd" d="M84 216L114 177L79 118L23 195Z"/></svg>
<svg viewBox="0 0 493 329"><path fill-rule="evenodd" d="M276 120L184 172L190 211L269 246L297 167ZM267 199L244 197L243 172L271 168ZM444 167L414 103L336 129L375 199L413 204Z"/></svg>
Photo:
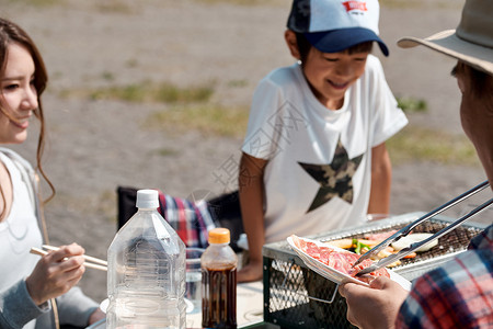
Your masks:
<svg viewBox="0 0 493 329"><path fill-rule="evenodd" d="M298 63L267 75L253 95L240 163L240 204L250 263L262 246L363 224L388 213L391 166L385 141L408 120L381 65L377 0L293 2L285 39Z"/></svg>

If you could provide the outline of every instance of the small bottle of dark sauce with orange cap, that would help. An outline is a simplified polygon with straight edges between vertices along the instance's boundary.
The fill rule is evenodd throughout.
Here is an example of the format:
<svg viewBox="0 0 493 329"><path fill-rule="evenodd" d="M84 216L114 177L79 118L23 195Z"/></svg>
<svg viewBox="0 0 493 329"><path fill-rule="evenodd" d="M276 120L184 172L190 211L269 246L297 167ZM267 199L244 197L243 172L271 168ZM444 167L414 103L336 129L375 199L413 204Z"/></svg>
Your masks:
<svg viewBox="0 0 493 329"><path fill-rule="evenodd" d="M208 240L200 258L202 327L236 329L238 258L229 246L229 229L211 229Z"/></svg>

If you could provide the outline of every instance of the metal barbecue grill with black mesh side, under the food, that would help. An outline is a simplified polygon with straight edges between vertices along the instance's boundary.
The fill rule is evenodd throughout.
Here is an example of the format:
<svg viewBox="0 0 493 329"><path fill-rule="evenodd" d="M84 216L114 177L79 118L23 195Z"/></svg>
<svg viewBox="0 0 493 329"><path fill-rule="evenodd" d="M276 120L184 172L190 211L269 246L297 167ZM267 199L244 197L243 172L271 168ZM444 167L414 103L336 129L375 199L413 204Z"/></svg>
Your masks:
<svg viewBox="0 0 493 329"><path fill-rule="evenodd" d="M365 226L319 234L308 238L330 241L342 238L364 238L400 229L417 219L422 213L410 213ZM421 224L414 232L437 232L454 218L435 216ZM486 227L466 223L438 240L438 245L413 259L402 259L392 270L412 281L467 249L469 241ZM355 328L346 320L347 306L335 283L308 269L286 241L263 248L264 321L282 328Z"/></svg>

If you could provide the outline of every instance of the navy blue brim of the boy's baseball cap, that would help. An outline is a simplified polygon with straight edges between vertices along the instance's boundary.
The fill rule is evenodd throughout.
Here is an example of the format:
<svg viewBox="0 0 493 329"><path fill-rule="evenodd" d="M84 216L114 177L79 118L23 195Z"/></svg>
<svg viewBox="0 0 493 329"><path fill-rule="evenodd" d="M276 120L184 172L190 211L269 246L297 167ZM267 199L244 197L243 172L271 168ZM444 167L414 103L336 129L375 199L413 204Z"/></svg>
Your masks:
<svg viewBox="0 0 493 329"><path fill-rule="evenodd" d="M364 27L349 27L323 32L305 33L308 42L322 53L340 53L365 42L377 42L383 55L389 49L375 32Z"/></svg>

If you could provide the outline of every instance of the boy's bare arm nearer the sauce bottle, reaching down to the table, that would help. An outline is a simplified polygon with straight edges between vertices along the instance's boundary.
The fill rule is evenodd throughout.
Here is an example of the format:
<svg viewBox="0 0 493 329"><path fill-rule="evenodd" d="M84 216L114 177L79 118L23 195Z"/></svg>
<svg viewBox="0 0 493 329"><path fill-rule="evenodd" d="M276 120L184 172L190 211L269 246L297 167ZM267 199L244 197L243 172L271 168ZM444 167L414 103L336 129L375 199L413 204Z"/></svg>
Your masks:
<svg viewBox="0 0 493 329"><path fill-rule="evenodd" d="M242 154L240 161L239 194L243 228L249 241L249 263L238 272L238 282L262 277L262 246L264 231L264 169L266 160Z"/></svg>

